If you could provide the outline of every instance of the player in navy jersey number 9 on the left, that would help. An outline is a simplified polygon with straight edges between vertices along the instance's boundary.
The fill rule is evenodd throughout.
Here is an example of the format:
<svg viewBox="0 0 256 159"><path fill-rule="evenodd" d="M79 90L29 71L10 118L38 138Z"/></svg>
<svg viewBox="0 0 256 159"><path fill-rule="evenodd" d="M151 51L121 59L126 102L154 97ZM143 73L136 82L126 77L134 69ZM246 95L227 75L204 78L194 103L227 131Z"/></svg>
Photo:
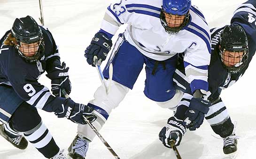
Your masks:
<svg viewBox="0 0 256 159"><path fill-rule="evenodd" d="M93 121L93 108L62 98L61 89L71 91L68 70L50 31L31 16L17 18L0 39L0 135L19 149L28 140L46 158L66 159L37 108L75 123L84 124L83 116ZM45 71L54 95L38 82Z"/></svg>

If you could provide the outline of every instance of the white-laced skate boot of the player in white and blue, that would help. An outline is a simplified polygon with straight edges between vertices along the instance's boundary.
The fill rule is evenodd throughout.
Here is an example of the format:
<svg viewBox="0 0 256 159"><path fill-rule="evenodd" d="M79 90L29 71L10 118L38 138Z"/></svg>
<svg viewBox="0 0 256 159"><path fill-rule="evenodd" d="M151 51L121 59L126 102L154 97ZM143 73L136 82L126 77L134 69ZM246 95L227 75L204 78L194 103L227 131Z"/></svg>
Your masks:
<svg viewBox="0 0 256 159"><path fill-rule="evenodd" d="M88 148L89 142L77 135L68 149L68 155L71 159L85 159Z"/></svg>

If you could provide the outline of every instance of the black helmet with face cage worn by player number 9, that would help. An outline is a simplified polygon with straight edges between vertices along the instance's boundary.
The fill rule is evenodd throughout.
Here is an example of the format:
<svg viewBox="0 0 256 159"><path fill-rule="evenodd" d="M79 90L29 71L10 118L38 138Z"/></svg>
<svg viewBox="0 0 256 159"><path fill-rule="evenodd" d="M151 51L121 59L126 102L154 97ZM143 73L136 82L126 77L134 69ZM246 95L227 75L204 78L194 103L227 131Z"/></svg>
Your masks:
<svg viewBox="0 0 256 159"><path fill-rule="evenodd" d="M11 33L16 39L15 48L22 58L30 63L42 58L45 49L42 30L31 16L16 18Z"/></svg>

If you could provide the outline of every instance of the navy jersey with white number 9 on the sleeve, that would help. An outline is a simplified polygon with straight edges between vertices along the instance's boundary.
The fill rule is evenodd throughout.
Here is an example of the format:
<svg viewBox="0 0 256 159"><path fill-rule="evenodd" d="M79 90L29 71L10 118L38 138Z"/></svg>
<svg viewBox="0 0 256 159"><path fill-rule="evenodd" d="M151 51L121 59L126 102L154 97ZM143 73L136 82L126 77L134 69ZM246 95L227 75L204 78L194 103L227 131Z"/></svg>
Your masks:
<svg viewBox="0 0 256 159"><path fill-rule="evenodd" d="M27 103L46 111L54 111L64 98L54 97L49 89L38 82L42 73L59 66L58 48L50 31L41 27L45 42L44 56L36 63L28 63L18 55L14 46L5 45L10 30L0 40L0 84L12 86Z"/></svg>

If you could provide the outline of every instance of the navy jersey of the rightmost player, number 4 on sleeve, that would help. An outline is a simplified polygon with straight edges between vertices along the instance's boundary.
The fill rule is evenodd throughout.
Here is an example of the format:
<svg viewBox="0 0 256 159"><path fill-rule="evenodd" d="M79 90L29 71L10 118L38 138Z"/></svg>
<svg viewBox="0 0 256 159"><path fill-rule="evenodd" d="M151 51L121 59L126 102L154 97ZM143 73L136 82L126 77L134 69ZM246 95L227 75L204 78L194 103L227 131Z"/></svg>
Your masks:
<svg viewBox="0 0 256 159"><path fill-rule="evenodd" d="M232 86L246 71L248 65L256 51L256 0L248 0L241 4L234 12L231 19L231 25L240 25L248 37L248 64L238 73L231 74L223 67L219 56L219 37L223 29L210 29L211 33L211 61L208 67L208 83L209 83L209 98L217 98L221 89ZM188 88L187 80L181 73L184 74L184 66L182 63L178 65L178 70L174 74L174 81L179 89L185 91ZM187 92L191 94L189 91ZM210 95L211 94L211 95ZM208 99L209 99L208 98ZM214 99L212 99L214 100Z"/></svg>

